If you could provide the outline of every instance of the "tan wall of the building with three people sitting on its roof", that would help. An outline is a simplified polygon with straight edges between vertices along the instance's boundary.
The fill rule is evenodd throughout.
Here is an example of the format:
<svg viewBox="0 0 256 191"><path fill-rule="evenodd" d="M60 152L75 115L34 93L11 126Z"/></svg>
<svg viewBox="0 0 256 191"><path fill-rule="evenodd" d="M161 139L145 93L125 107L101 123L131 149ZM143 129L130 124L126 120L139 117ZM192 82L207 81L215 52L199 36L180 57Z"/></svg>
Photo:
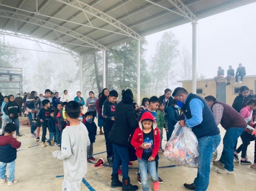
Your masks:
<svg viewBox="0 0 256 191"><path fill-rule="evenodd" d="M239 77L240 81L240 77ZM226 78L221 80L221 82L227 82ZM248 88L252 89L254 91L254 94L256 92L256 76L245 76L243 83L238 83L235 85L235 78L232 78L230 80L231 85L226 86L226 103L229 105L233 104L234 99L238 94L234 94L234 88L235 87L241 87L241 86L247 86ZM192 81L181 81L183 88L185 88L188 92L192 92ZM207 87L206 87L207 85ZM213 79L204 79L204 80L198 80L197 81L197 88L203 89L203 94L199 96L206 97L209 95L212 95L216 97L216 83Z"/></svg>

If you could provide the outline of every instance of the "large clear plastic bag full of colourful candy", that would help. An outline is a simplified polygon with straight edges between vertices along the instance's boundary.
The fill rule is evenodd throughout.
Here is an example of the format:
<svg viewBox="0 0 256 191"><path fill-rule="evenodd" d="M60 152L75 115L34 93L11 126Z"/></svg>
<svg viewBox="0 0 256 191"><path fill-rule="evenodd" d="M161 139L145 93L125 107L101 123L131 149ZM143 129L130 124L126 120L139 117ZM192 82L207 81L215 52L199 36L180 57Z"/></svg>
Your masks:
<svg viewBox="0 0 256 191"><path fill-rule="evenodd" d="M163 154L177 165L198 168L198 140L192 129L177 123Z"/></svg>

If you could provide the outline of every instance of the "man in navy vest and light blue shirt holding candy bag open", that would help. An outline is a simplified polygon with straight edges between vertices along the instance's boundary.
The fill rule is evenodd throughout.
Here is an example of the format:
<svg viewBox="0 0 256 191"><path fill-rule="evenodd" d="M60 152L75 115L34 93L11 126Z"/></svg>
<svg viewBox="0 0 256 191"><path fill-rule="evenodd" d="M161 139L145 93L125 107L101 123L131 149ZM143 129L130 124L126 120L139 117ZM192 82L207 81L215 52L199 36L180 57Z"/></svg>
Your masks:
<svg viewBox="0 0 256 191"><path fill-rule="evenodd" d="M198 139L198 174L192 184L184 184L189 190L206 191L209 185L212 154L221 143L221 135L215 123L214 115L206 101L184 88L176 88L172 96L185 114L185 120L180 120L183 127L192 128Z"/></svg>

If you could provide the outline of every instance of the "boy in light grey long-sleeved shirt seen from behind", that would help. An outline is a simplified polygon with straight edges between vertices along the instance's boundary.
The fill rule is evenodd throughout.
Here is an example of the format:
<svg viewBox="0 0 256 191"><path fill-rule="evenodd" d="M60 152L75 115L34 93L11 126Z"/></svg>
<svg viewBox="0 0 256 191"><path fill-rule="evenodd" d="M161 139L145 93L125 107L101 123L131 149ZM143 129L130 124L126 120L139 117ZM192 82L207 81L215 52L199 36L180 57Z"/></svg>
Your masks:
<svg viewBox="0 0 256 191"><path fill-rule="evenodd" d="M61 151L52 152L56 159L63 160L64 180L62 190L79 191L82 178L87 173L87 146L90 145L87 128L78 119L80 104L70 101L65 108L70 126L64 128L61 137Z"/></svg>

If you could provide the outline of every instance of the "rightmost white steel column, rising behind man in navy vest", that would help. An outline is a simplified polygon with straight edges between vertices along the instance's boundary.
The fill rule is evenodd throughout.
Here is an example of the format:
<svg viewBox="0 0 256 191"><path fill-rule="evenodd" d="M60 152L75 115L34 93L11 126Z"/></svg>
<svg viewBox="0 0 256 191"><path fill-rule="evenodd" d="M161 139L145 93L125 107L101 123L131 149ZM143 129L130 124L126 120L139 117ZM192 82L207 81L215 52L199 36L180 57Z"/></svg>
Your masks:
<svg viewBox="0 0 256 191"><path fill-rule="evenodd" d="M196 94L196 26L197 22L192 23L192 93Z"/></svg>

